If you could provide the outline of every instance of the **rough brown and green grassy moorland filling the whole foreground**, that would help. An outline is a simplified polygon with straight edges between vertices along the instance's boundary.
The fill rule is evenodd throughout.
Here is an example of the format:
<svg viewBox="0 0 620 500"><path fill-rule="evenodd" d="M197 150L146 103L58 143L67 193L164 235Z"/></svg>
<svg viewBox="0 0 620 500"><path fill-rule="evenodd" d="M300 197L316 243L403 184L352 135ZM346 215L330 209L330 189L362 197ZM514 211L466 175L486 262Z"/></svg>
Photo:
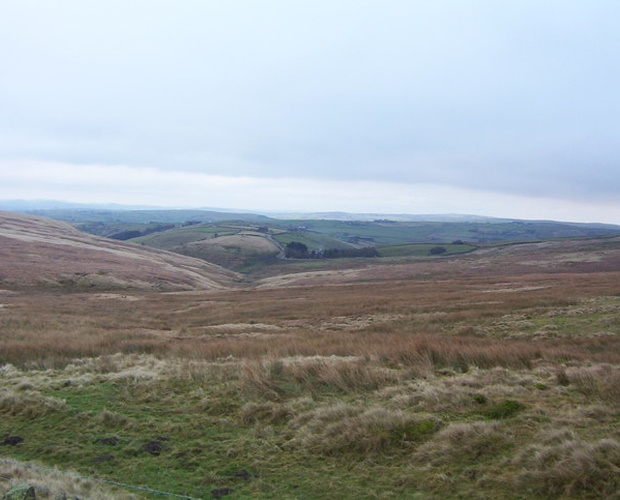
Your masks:
<svg viewBox="0 0 620 500"><path fill-rule="evenodd" d="M620 498L620 265L599 243L0 291L0 457L194 498ZM0 492L27 475L0 469Z"/></svg>

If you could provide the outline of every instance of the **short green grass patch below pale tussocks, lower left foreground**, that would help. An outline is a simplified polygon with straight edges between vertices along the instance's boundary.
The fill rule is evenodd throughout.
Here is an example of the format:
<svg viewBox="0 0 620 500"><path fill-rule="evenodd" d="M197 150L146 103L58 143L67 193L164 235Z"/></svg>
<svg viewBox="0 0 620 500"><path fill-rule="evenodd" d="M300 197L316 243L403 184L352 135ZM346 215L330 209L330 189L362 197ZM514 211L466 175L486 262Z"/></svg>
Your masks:
<svg viewBox="0 0 620 500"><path fill-rule="evenodd" d="M232 490L229 498L344 498L368 488L398 488L395 477L369 479L366 474L386 467L388 456L362 466L362 457L343 464L329 456L319 460L303 447L282 451L290 439L289 418L269 419L269 428L251 419L244 422L244 398L229 384L126 380L48 389L42 396L62 397L66 405L29 419L2 413L0 436L24 438L2 451L21 461L197 498L208 498L218 488ZM393 417L362 415L362 427L350 428L353 435L340 444L353 452L362 446L383 453L435 430L424 419L399 414L387 421L386 415ZM341 425L349 428L346 420ZM352 467L358 472L351 473Z"/></svg>

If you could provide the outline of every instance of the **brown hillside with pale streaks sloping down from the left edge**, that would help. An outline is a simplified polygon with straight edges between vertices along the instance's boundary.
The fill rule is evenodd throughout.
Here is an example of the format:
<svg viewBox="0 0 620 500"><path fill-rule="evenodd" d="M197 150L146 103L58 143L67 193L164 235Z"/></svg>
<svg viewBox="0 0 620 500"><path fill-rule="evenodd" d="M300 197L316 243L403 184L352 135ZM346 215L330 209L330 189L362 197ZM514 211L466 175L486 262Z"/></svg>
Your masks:
<svg viewBox="0 0 620 500"><path fill-rule="evenodd" d="M238 276L198 259L0 211L0 283L143 290L225 289Z"/></svg>

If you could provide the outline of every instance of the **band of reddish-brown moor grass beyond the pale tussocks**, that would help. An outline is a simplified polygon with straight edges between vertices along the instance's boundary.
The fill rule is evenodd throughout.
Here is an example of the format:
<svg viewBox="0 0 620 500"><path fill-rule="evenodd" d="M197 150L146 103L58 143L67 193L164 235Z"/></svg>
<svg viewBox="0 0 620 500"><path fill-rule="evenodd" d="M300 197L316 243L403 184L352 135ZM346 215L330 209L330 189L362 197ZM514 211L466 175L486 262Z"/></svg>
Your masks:
<svg viewBox="0 0 620 500"><path fill-rule="evenodd" d="M520 286L513 292L504 291L501 300L490 304L488 291L505 286L506 278L499 285L497 279L483 283L379 282L177 294L29 290L2 298L0 361L54 366L79 357L150 352L211 360L370 356L393 365L457 370L529 367L540 358L617 363L618 326L601 324L602 316L614 313L595 310L577 318L590 322L594 334L600 333L597 328L606 329L605 335L582 331L532 342L511 338L510 333L522 328L519 324L513 332L505 326L494 327L515 311L538 323L562 323L549 314L565 309L567 299L578 304L598 295L602 297L600 309L617 302L606 298L613 297L620 282L610 282L609 273L569 275L566 279L571 286L580 281L572 295L563 278L557 276L553 287L523 292ZM530 276L527 282L533 287L531 280ZM556 295L560 291L561 299ZM566 323L565 318L560 320Z"/></svg>

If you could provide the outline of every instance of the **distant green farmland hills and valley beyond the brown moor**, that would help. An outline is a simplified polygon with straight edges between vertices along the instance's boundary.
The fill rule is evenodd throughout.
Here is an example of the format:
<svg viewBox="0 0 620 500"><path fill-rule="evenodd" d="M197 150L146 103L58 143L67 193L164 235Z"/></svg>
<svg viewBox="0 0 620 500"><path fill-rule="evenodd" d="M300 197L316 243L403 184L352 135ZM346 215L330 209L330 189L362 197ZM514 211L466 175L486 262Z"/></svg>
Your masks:
<svg viewBox="0 0 620 500"><path fill-rule="evenodd" d="M620 226L500 219L477 215L349 214L324 212L281 218L207 209L53 208L30 210L86 233L174 252L243 273L289 265L285 247L301 244L308 255L355 255L374 247L379 258L466 253L494 242L546 241L620 234ZM436 249L435 249L436 250ZM338 254L339 252L339 254ZM318 262L313 264L319 265Z"/></svg>

